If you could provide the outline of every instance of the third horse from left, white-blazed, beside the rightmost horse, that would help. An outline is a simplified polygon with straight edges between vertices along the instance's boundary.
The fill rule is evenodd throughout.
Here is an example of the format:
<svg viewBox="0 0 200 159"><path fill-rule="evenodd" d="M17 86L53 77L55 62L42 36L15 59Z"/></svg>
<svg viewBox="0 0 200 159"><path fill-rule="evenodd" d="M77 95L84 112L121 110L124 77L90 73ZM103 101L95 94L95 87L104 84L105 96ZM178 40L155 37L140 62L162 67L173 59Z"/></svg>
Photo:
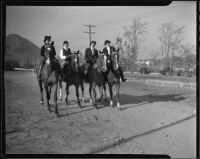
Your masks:
<svg viewBox="0 0 200 159"><path fill-rule="evenodd" d="M105 60L105 56L103 54L99 55L99 58L97 59L96 63L93 66L93 69L91 71L92 74L92 90L93 90L93 95L94 95L94 106L96 108L97 107L97 93L96 93L96 86L99 86L99 91L100 91L100 98L98 100L98 102L101 102L102 98L103 98L103 89L105 92L105 96L106 96L106 78L105 78L105 73L107 71L107 67L106 67L106 60ZM106 99L106 98L105 98Z"/></svg>

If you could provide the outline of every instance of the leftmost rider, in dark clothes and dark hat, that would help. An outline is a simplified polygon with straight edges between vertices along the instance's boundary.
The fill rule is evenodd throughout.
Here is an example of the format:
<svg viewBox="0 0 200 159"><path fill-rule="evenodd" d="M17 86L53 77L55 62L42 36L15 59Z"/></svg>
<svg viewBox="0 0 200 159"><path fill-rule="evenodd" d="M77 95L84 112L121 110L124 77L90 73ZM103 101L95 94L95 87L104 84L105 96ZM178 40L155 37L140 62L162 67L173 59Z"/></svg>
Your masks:
<svg viewBox="0 0 200 159"><path fill-rule="evenodd" d="M40 49L40 56L41 56L41 60L40 60L40 68L39 68L39 78L41 77L41 72L42 72L42 68L47 60L47 57L45 55L45 51L46 48L50 45L50 41L51 41L51 36L45 36L44 37L44 45L41 47Z"/></svg>

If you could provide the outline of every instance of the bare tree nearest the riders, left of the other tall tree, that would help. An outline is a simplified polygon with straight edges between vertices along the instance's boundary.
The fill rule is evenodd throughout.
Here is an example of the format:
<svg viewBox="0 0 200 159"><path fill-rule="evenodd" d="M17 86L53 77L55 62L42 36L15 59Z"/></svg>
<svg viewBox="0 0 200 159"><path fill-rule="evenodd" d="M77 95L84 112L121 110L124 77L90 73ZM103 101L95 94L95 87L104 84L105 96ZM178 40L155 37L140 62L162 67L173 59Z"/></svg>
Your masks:
<svg viewBox="0 0 200 159"><path fill-rule="evenodd" d="M147 22L141 22L140 18L135 18L129 27L124 27L124 36L128 40L128 44L126 44L127 55L134 61L138 57L139 45L144 40L142 37L147 33L147 24Z"/></svg>

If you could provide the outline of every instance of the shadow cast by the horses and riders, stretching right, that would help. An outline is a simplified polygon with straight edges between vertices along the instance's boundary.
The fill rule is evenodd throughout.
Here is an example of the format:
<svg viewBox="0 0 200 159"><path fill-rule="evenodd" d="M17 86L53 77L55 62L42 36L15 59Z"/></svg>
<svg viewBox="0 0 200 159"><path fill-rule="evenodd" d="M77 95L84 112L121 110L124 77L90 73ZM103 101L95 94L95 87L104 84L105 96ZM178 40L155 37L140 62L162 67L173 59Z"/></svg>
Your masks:
<svg viewBox="0 0 200 159"><path fill-rule="evenodd" d="M179 102L185 100L186 98L182 96L183 94L168 94L168 95L158 95L158 94L147 94L142 96L133 96L128 94L120 94L120 104L121 110L125 110L131 107L142 106L148 103L154 102ZM114 104L116 105L116 97L114 97ZM98 104L98 109L105 108L109 106L108 101L102 101ZM52 107L55 107L53 104ZM59 117L80 114L82 112L90 111L96 109L93 105L89 103L89 100L86 100L84 105L80 108L77 105L76 100L71 100L70 105L65 103L58 103ZM72 111L75 110L75 111Z"/></svg>

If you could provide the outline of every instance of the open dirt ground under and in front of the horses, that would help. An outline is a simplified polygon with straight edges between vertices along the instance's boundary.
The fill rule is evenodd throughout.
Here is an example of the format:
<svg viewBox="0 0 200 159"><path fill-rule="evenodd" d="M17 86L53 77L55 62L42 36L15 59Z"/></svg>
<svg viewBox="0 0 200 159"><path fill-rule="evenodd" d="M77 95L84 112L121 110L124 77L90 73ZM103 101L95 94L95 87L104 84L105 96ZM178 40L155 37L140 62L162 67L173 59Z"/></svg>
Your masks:
<svg viewBox="0 0 200 159"><path fill-rule="evenodd" d="M6 154L196 156L195 90L122 83L122 110L118 110L106 102L95 109L89 101L79 108L71 86L71 104L59 102L57 118L48 112L46 101L39 103L35 73L5 72L4 76ZM89 97L87 84L85 96Z"/></svg>

